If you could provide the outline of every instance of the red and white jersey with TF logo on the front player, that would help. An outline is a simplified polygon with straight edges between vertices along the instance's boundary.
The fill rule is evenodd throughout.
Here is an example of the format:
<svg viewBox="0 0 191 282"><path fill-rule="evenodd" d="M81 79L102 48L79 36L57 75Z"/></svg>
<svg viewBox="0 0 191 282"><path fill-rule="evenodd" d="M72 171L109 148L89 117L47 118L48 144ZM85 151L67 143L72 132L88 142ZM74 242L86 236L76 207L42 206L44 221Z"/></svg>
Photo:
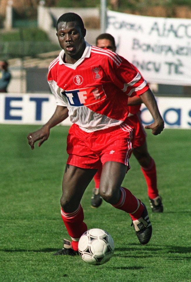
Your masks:
<svg viewBox="0 0 191 282"><path fill-rule="evenodd" d="M113 51L91 46L75 64L63 62L64 50L50 64L48 83L56 104L66 106L71 122L86 132L123 123L128 96L143 94L147 82Z"/></svg>

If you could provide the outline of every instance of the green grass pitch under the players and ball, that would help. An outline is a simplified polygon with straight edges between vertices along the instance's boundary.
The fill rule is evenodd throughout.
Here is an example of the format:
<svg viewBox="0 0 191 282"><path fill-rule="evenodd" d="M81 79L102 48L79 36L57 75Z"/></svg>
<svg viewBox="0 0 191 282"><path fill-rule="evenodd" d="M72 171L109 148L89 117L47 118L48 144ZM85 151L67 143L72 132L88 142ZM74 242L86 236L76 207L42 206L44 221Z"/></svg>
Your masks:
<svg viewBox="0 0 191 282"><path fill-rule="evenodd" d="M90 206L93 181L82 206L90 228L108 231L115 243L110 261L91 266L79 256L53 256L68 238L60 216L68 127L56 126L41 148L32 151L26 136L40 126L0 125L0 281L4 282L189 282L189 130L147 131L158 171L164 213L151 212L146 183L134 156L123 185L147 206L153 236L141 246L130 216L104 202Z"/></svg>

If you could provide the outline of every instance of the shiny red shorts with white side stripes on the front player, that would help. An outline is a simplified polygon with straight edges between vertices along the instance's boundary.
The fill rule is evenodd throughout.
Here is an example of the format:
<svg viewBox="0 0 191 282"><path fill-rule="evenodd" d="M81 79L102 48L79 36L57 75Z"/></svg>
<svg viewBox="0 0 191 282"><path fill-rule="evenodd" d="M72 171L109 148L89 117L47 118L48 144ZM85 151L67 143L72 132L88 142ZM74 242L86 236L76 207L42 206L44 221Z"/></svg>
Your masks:
<svg viewBox="0 0 191 282"><path fill-rule="evenodd" d="M91 133L73 124L67 137L67 164L98 169L107 161L115 161L129 166L134 134L131 122L126 122Z"/></svg>

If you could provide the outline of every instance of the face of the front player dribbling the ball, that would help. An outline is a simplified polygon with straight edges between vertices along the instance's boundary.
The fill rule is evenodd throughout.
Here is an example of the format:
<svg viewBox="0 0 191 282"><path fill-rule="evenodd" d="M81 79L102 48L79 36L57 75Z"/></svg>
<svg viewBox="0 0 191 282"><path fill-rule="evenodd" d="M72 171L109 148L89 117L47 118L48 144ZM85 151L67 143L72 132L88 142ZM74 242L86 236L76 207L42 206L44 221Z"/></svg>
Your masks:
<svg viewBox="0 0 191 282"><path fill-rule="evenodd" d="M81 58L85 49L84 36L86 35L86 29L81 31L81 28L74 21L61 22L58 24L56 35L67 59L70 59L69 57Z"/></svg>

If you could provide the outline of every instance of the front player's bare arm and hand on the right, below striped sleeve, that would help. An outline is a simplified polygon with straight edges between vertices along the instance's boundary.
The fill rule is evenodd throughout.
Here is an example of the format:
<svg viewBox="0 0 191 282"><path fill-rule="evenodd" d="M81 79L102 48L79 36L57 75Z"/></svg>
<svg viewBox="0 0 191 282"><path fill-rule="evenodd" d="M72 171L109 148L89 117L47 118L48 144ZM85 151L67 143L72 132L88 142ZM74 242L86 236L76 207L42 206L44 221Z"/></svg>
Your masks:
<svg viewBox="0 0 191 282"><path fill-rule="evenodd" d="M145 128L152 129L152 134L154 135L160 134L165 126L162 116L160 115L153 92L150 89L148 89L146 92L139 95L139 97L142 100L142 102L145 104L145 106L148 108L154 119L154 122L150 125L145 126Z"/></svg>

